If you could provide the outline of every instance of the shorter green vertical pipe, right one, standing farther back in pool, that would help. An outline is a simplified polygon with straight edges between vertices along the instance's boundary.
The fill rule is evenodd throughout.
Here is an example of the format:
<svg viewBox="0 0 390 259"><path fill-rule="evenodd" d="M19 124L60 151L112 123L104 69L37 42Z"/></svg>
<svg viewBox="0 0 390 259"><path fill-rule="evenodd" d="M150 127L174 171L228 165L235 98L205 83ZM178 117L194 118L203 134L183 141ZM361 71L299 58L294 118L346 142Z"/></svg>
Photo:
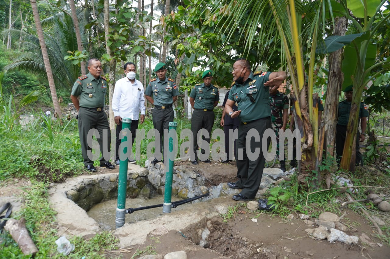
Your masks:
<svg viewBox="0 0 390 259"><path fill-rule="evenodd" d="M168 130L175 129L176 131L176 128L177 128L177 122L173 122L173 121L169 122ZM168 143L169 143L169 149L167 155L169 160L168 160L168 170L165 173L165 191L164 191L164 204L163 204L164 213L170 213L172 208L171 198L172 198L172 178L173 178L174 161L170 159L169 153L173 152L173 138L169 138Z"/></svg>

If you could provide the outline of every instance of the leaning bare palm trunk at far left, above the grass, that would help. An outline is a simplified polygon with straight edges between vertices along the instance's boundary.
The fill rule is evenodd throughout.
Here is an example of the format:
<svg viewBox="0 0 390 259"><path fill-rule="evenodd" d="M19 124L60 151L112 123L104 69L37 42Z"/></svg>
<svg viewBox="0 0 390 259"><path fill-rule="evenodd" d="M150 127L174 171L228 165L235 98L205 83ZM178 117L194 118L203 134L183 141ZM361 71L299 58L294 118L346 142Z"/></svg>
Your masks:
<svg viewBox="0 0 390 259"><path fill-rule="evenodd" d="M60 103L58 103L57 91L55 89L53 73L51 72L51 65L50 65L50 61L49 61L49 55L48 55L48 51L46 49L45 39L43 37L43 30L42 30L41 20L39 19L39 12L38 12L38 7L37 7L37 1L36 0L30 0L30 2L31 2L31 7L32 7L32 13L34 15L35 26L37 27L37 34L38 34L39 44L41 45L43 62L45 64L46 74L48 76L49 88L50 88L50 93L51 93L51 99L53 100L54 111L55 111L54 117L62 117L62 112L61 112L61 109L60 109Z"/></svg>

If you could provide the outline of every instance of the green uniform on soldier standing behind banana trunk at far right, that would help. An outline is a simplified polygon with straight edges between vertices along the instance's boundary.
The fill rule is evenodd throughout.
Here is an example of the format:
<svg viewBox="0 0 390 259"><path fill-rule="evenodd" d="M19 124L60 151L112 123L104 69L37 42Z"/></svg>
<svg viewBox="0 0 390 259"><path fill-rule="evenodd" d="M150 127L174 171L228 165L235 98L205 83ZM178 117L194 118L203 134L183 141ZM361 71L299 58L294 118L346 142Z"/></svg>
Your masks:
<svg viewBox="0 0 390 259"><path fill-rule="evenodd" d="M346 89L349 90L349 89ZM346 91L344 90L344 91ZM352 91L352 88L351 88ZM340 160L342 152L344 150L344 143L347 135L347 125L349 121L349 112L351 111L351 103L346 100L339 102L339 110L337 113L337 125L336 125L336 161L337 165L340 166ZM359 118L368 117L369 113L367 107L363 102L360 102ZM360 153L359 148L359 137L360 132L356 132L356 165L361 163L363 165L363 156Z"/></svg>

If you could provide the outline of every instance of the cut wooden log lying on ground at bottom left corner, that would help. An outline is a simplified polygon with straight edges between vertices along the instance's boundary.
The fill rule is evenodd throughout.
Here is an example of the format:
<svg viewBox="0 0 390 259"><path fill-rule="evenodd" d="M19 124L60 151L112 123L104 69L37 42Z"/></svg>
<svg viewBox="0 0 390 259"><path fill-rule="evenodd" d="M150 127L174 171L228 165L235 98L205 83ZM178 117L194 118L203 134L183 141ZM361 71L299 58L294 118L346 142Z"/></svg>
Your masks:
<svg viewBox="0 0 390 259"><path fill-rule="evenodd" d="M28 234L25 223L25 218L21 218L20 220L9 219L7 221L7 224L5 224L4 226L4 229L7 230L11 234L15 242L18 243L20 250L22 250L23 254L32 254L33 256L35 256L35 254L38 252L38 249L35 246L34 241L32 241L30 235Z"/></svg>

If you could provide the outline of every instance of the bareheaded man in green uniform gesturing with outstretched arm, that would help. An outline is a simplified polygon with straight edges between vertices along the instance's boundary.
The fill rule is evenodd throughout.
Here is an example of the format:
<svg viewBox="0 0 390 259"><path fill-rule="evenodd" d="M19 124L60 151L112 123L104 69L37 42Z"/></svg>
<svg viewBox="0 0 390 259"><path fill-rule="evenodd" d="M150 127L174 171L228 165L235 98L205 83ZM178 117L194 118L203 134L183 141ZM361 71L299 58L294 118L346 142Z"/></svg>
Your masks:
<svg viewBox="0 0 390 259"><path fill-rule="evenodd" d="M269 86L274 86L277 89L287 78L287 74L284 71L252 73L249 62L243 58L237 59L234 63L232 74L234 82L232 89L230 89L225 111L232 118L238 116L241 124L238 128L237 142L238 181L229 182L228 186L242 189L241 193L233 196L234 200L246 201L254 199L259 190L265 163L262 141L266 141L268 152L270 138L264 139L263 135L266 129L271 129ZM232 108L234 103L238 107L235 112ZM252 137L252 133L248 134L250 129L257 131L260 141L256 141ZM249 138L250 150L246 150L247 138Z"/></svg>

